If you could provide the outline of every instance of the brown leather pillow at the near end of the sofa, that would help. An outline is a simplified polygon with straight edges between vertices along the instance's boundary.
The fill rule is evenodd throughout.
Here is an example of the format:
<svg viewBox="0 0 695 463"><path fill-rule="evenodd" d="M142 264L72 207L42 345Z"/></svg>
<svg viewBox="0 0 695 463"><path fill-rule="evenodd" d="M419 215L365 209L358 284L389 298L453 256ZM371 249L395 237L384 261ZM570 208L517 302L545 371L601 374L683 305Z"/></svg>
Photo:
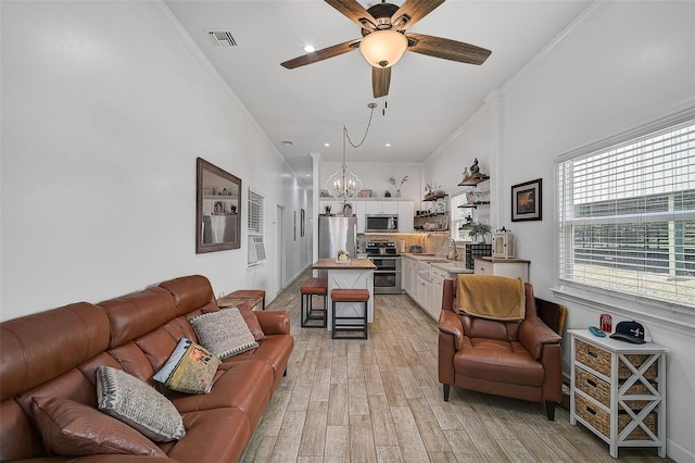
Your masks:
<svg viewBox="0 0 695 463"><path fill-rule="evenodd" d="M130 426L84 403L35 397L31 409L43 442L59 455L112 453L166 456L151 440Z"/></svg>

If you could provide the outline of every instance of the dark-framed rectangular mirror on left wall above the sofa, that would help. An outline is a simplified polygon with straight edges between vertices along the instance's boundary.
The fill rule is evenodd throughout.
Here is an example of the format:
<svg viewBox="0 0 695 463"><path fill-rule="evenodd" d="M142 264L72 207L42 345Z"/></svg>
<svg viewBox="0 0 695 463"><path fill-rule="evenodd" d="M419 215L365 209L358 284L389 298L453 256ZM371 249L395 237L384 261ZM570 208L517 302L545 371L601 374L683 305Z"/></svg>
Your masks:
<svg viewBox="0 0 695 463"><path fill-rule="evenodd" d="M195 253L241 247L241 179L198 158Z"/></svg>

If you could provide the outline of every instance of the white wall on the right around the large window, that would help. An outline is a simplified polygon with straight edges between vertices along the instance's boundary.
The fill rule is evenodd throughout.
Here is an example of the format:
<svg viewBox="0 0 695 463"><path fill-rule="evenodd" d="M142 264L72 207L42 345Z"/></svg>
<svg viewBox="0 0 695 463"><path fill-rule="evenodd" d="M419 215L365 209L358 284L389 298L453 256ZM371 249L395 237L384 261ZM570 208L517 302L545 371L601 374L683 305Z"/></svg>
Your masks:
<svg viewBox="0 0 695 463"><path fill-rule="evenodd" d="M654 342L670 349L668 454L681 462L695 461L695 315L669 313L667 308L645 313L636 303L616 299L598 305L586 295L558 300L552 291L558 287L554 161L695 105L695 3L596 3L485 105L456 139L428 160L425 175L448 178L460 153L488 151L490 158L481 165L485 172L488 164L497 182L492 186L495 227L510 224L510 186L543 178L543 220L510 224L518 256L531 261L536 296L568 306L568 328L597 325L599 313L606 311L614 314L614 324L637 317L647 325ZM566 339L566 375L568 347Z"/></svg>

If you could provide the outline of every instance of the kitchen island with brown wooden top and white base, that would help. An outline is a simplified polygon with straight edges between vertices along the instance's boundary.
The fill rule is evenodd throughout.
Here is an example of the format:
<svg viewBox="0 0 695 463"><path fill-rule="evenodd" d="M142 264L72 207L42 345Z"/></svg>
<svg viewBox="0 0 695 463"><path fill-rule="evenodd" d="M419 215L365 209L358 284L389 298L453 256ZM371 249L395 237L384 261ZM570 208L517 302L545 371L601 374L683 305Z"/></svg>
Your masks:
<svg viewBox="0 0 695 463"><path fill-rule="evenodd" d="M312 265L312 270L328 272L327 296L327 324L332 327L330 291L340 289L367 289L369 301L367 302L367 323L374 323L374 271L377 266L369 259L351 259L346 262L337 262L334 259L319 259ZM363 313L359 303L341 302L337 311L340 316L359 315Z"/></svg>

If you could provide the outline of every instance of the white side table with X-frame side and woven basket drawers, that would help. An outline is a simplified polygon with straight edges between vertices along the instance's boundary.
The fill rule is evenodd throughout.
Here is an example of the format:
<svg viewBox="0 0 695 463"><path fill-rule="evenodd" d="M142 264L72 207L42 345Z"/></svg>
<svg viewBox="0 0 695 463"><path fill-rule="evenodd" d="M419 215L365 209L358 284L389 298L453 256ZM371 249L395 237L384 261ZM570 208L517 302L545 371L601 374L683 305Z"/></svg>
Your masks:
<svg viewBox="0 0 695 463"><path fill-rule="evenodd" d="M587 329L571 336L570 417L610 446L658 447L666 456L666 352L652 342L599 338Z"/></svg>

